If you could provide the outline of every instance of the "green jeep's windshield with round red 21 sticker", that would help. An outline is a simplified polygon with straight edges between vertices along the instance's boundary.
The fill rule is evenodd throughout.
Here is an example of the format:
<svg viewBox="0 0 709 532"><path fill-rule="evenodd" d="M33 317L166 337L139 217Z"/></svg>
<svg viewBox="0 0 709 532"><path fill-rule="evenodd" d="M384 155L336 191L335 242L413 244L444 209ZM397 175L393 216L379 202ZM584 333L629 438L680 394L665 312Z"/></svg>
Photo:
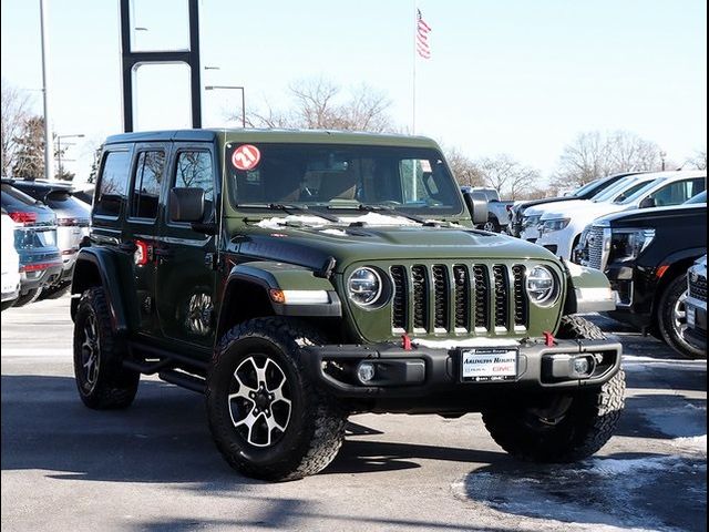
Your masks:
<svg viewBox="0 0 709 532"><path fill-rule="evenodd" d="M239 209L378 205L421 215L463 211L455 182L432 149L227 144L226 168Z"/></svg>

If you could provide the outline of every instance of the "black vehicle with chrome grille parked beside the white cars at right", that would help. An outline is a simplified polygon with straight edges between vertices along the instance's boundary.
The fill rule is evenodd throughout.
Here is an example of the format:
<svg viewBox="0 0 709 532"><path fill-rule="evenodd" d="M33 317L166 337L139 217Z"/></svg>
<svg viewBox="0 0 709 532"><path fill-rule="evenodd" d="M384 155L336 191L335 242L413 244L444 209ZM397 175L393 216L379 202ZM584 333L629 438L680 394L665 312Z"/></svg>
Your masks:
<svg viewBox="0 0 709 532"><path fill-rule="evenodd" d="M707 253L707 193L675 207L603 216L582 234L574 262L603 270L617 293L610 317L703 358L685 337L687 268Z"/></svg>

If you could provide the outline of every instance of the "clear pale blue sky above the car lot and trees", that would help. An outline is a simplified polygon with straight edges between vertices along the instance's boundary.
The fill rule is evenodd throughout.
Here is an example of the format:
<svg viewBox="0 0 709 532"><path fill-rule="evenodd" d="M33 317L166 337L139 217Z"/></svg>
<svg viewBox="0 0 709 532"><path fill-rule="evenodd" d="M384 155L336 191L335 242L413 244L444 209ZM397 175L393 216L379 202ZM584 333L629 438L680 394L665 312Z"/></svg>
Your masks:
<svg viewBox="0 0 709 532"><path fill-rule="evenodd" d="M184 0L133 0L142 48L187 42ZM69 157L122 127L117 0L49 0L54 131L84 133ZM39 0L2 0L2 78L41 113ZM421 0L432 59L417 63L417 133L466 155L510 153L548 174L583 131L627 130L681 162L707 144L703 0ZM204 0L204 84L243 85L246 106L326 76L392 100L411 127L412 0ZM184 14L183 14L184 13ZM140 74L138 127L187 123L186 73ZM162 88L158 81L162 82ZM168 86L164 86L168 85ZM238 91L204 92L206 126L228 125ZM234 123L232 123L234 125Z"/></svg>

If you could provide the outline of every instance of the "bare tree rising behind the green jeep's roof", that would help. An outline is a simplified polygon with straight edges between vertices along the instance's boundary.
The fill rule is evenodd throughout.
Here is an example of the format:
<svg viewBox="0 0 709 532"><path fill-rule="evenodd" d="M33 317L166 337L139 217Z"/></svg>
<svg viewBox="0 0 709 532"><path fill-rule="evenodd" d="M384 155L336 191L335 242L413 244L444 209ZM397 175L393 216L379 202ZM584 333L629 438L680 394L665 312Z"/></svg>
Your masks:
<svg viewBox="0 0 709 532"><path fill-rule="evenodd" d="M256 127L300 127L307 130L393 131L387 110L391 101L383 92L362 84L343 93L333 82L316 78L289 86L291 105L248 113L247 122Z"/></svg>

